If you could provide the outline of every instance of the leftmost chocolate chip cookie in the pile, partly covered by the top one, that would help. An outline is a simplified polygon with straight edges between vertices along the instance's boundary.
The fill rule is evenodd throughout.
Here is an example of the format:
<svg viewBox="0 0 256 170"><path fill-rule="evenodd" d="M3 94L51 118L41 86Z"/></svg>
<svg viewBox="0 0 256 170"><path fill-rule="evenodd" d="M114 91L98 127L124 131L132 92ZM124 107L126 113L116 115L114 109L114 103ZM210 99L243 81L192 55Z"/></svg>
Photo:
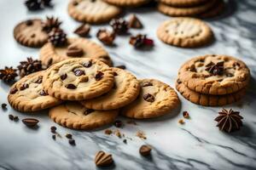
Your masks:
<svg viewBox="0 0 256 170"><path fill-rule="evenodd" d="M60 99L49 96L42 86L44 71L32 73L15 82L10 88L8 101L17 111L41 111L59 105Z"/></svg>

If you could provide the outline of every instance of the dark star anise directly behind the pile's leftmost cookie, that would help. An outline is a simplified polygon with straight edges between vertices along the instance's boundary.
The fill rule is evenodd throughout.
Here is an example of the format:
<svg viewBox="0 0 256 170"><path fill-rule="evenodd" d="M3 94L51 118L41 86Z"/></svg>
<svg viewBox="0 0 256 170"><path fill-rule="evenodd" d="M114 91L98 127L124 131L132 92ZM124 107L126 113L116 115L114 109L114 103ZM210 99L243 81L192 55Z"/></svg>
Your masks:
<svg viewBox="0 0 256 170"><path fill-rule="evenodd" d="M25 77L33 72L42 71L41 60L32 59L31 57L27 58L26 61L20 61L18 65L20 77Z"/></svg>

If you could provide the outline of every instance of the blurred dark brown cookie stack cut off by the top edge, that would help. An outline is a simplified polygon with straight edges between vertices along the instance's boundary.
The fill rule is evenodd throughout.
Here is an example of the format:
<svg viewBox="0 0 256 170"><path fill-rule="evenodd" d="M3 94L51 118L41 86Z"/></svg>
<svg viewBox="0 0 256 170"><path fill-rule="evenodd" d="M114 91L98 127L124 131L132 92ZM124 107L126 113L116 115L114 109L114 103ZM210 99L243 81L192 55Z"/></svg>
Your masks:
<svg viewBox="0 0 256 170"><path fill-rule="evenodd" d="M224 10L223 0L160 0L158 10L170 16L213 17Z"/></svg>

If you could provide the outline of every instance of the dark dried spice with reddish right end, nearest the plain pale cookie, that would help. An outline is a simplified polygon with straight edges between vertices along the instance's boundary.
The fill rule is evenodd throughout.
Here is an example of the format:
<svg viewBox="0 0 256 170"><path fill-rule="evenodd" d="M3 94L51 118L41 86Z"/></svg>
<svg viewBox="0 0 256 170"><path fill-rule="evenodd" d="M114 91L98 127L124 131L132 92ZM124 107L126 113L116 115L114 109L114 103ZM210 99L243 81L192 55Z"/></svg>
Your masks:
<svg viewBox="0 0 256 170"><path fill-rule="evenodd" d="M153 46L154 41L149 39L146 35L138 34L137 36L130 38L130 44L135 48L141 48L143 46Z"/></svg>

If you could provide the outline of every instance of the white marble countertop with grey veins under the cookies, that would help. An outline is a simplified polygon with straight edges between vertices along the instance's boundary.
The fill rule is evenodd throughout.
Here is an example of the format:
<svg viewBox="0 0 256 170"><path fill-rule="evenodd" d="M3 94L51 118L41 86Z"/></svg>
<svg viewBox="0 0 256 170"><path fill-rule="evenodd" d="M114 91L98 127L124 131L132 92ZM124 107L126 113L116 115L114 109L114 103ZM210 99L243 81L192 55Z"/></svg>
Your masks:
<svg viewBox="0 0 256 170"><path fill-rule="evenodd" d="M23 1L0 1L0 68L16 66L28 56L38 58L38 49L20 46L13 38L13 28L20 20L33 17L44 18L55 15L63 20L68 35L79 23L67 14L67 1L55 0L55 8L38 13L29 13ZM104 134L103 129L92 132L74 131L57 126L49 120L47 111L34 115L14 111L8 105L7 111L0 109L0 169L97 169L94 163L96 151L113 154L114 166L110 169L256 169L256 1L230 0L225 14L215 20L207 20L212 27L216 41L207 47L196 49L168 46L156 37L160 22L169 17L153 8L138 8L126 11L125 16L136 13L143 21L144 29L131 30L132 34L142 32L154 39L151 50L135 50L129 44L129 37L117 37L116 47L108 49L115 65L126 65L127 70L137 77L156 78L174 87L177 70L187 59L201 54L228 54L242 59L249 66L252 82L247 95L238 103L225 106L241 111L244 126L236 133L222 133L216 127L214 118L221 107L194 105L179 95L182 104L172 114L154 120L136 121L137 125L125 124L121 133L127 136L127 144L114 135ZM93 26L91 35L96 41ZM100 42L99 42L100 43ZM0 82L0 103L7 103L9 86ZM191 116L184 125L177 121L182 111ZM36 117L40 120L37 129L27 128L21 121L11 122L8 115ZM126 121L124 117L120 120ZM49 127L55 125L62 138L51 139ZM115 127L110 127L115 129ZM147 139L136 137L138 130L146 133ZM76 146L68 144L64 135L72 133ZM152 156L143 158L138 153L142 144L151 144Z"/></svg>

